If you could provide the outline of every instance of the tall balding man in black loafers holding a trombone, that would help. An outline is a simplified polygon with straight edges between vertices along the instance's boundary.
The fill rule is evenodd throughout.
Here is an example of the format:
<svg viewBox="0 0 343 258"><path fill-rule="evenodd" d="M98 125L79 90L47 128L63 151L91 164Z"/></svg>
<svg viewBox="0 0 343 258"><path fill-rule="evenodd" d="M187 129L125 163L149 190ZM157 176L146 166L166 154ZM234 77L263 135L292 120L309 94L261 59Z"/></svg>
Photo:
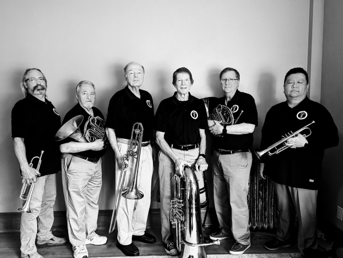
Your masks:
<svg viewBox="0 0 343 258"><path fill-rule="evenodd" d="M115 93L108 105L106 133L116 156L116 188L122 167L122 157L128 153L132 126L139 122L143 125L143 142L138 164L138 189L144 194L140 200L121 198L117 215L117 247L128 256L138 256L139 249L132 240L155 243L156 238L145 232L150 208L151 177L153 156L156 149L153 140L154 104L151 95L141 90L144 67L138 63L128 63L124 68L127 86ZM130 186L135 158L130 158L123 188Z"/></svg>

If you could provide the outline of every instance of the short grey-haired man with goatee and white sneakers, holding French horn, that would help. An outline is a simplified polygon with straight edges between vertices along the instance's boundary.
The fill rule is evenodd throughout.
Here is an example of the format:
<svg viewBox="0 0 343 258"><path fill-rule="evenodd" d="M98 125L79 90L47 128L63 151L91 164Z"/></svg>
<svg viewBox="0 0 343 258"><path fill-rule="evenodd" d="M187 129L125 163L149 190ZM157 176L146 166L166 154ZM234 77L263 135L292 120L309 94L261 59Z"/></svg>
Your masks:
<svg viewBox="0 0 343 258"><path fill-rule="evenodd" d="M104 119L99 109L94 107L95 86L89 81L82 81L76 86L78 103L66 114L63 124L77 115L83 115L80 124L84 131L85 124L92 119ZM105 154L103 139L93 142L76 142L66 138L60 145L62 152L62 184L67 211L69 241L72 244L74 258L88 257L85 245L103 245L106 236L95 233L98 219L98 199L102 186L101 157Z"/></svg>

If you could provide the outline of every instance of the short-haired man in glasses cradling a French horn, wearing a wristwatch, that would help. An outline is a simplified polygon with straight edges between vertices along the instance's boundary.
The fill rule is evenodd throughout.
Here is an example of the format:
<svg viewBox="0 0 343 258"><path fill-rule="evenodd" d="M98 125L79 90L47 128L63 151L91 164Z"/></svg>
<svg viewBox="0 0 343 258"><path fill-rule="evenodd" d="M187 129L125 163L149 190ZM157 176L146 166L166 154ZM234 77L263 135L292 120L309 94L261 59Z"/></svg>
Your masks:
<svg viewBox="0 0 343 258"><path fill-rule="evenodd" d="M217 105L232 110L235 124L221 125L220 121L209 120L213 137L213 190L214 207L220 230L210 234L210 238L233 237L236 243L230 254L243 254L250 247L249 210L247 195L252 156L252 132L257 126L255 100L247 93L240 92L239 73L227 67L219 75L224 97L210 98L209 111ZM243 111L243 112L241 112ZM225 122L225 121L222 121Z"/></svg>

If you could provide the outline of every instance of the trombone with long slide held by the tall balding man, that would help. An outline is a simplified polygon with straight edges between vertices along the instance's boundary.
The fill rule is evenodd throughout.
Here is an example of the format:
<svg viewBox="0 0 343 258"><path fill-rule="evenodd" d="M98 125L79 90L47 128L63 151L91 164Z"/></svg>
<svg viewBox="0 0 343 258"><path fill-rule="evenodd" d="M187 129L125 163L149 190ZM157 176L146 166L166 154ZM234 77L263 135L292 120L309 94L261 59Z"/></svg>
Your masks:
<svg viewBox="0 0 343 258"><path fill-rule="evenodd" d="M115 226L116 226L121 196L127 199L131 199L131 200L139 200L144 197L143 193L138 190L138 183L137 183L138 165L139 165L139 159L141 155L142 139L143 139L143 125L141 123L134 123L132 126L129 151L125 156L123 156L123 159L122 159L123 165L120 171L118 189L116 191L112 218L111 218L111 222L110 222L110 226L108 230L109 234L111 234L114 231ZM131 185L129 188L126 188L123 190L126 171L129 168L130 156L133 158L136 158L136 163L134 166L134 172L133 172Z"/></svg>

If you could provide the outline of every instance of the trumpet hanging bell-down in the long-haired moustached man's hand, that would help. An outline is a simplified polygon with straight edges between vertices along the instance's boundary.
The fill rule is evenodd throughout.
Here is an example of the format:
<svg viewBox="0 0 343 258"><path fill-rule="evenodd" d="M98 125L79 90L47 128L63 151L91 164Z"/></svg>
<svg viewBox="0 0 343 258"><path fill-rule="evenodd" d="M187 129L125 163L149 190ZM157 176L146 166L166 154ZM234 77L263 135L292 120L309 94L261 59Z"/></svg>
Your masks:
<svg viewBox="0 0 343 258"><path fill-rule="evenodd" d="M44 150L42 150L40 152L40 157L36 156L33 157L30 161L29 166L32 168L33 167L33 160L34 159L38 159L38 164L36 167L36 172L35 175L37 177L37 180L39 180L39 168L40 168L40 164L42 163L42 155L44 153ZM31 213L32 211L30 210L30 202L31 202L31 198L32 198L32 193L33 193L33 189L35 188L36 183L32 182L31 185L27 185L26 181L24 182L22 189L20 191L20 195L19 195L19 199L23 202L23 207L19 208L18 211L23 212L23 213ZM27 194L26 194L27 192Z"/></svg>

